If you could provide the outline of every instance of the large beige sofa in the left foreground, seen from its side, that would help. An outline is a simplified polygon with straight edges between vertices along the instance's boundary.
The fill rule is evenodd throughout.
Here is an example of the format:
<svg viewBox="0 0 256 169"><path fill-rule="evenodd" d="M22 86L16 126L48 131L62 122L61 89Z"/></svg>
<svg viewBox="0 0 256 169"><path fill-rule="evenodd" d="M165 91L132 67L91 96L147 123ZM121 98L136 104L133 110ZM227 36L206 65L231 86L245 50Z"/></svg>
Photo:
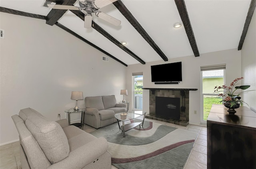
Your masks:
<svg viewBox="0 0 256 169"><path fill-rule="evenodd" d="M105 138L46 119L32 108L12 116L20 138L22 169L110 169Z"/></svg>

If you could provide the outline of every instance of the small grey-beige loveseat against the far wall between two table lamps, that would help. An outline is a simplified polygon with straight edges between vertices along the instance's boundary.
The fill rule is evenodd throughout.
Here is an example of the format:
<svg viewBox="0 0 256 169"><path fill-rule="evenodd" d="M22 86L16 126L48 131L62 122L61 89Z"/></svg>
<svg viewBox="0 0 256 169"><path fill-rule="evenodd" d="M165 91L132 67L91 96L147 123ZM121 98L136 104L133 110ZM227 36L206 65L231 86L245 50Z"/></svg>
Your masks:
<svg viewBox="0 0 256 169"><path fill-rule="evenodd" d="M115 95L85 97L84 124L101 128L117 122L114 115L126 112L126 104L116 103Z"/></svg>

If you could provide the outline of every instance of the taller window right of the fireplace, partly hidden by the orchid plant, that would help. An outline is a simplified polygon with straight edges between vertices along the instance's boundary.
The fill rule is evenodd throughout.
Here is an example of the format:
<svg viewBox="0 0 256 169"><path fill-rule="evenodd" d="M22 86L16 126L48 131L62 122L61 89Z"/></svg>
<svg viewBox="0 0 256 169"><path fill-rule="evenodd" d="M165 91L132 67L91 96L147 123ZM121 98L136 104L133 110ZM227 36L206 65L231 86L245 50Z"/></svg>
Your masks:
<svg viewBox="0 0 256 169"><path fill-rule="evenodd" d="M224 65L212 65L201 67L201 123L206 124L206 120L212 108L212 104L222 104L218 93L214 93L215 86L224 85L225 81Z"/></svg>

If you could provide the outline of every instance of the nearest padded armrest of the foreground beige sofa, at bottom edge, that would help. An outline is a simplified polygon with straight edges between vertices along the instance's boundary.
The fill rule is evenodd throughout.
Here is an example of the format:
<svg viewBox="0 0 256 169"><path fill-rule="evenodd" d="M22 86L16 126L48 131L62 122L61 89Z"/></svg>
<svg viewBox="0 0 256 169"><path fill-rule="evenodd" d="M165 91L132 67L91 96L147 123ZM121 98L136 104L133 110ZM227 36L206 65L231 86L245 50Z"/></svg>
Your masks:
<svg viewBox="0 0 256 169"><path fill-rule="evenodd" d="M102 154L107 152L108 142L105 138L100 137L96 140L82 145L81 147L71 151L65 159L54 163L49 169L82 169L90 164ZM111 163L111 159L109 161Z"/></svg>

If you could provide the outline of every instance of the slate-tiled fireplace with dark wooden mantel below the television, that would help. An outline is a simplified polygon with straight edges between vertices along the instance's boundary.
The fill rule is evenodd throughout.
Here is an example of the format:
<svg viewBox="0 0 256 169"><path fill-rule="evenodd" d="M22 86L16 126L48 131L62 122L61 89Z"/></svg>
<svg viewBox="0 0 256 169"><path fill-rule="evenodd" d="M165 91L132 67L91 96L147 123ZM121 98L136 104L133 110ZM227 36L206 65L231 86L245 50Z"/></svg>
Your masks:
<svg viewBox="0 0 256 169"><path fill-rule="evenodd" d="M189 92L198 90L197 88L143 88L148 89L149 92L149 114L146 118L177 124L181 126L188 126L189 124ZM171 99L173 102L165 102L160 100L160 107L158 99ZM165 100L165 99L164 99ZM168 114L164 114L161 107L166 109ZM171 111L171 110L177 110Z"/></svg>

